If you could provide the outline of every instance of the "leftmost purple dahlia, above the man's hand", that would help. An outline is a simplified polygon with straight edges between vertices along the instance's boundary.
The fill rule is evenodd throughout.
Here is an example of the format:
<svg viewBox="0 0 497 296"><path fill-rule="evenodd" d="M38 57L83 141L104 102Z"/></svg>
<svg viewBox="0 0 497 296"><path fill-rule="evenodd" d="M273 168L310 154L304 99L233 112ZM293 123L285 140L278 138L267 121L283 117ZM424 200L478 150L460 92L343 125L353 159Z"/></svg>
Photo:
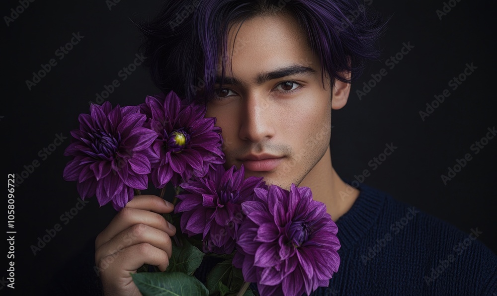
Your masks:
<svg viewBox="0 0 497 296"><path fill-rule="evenodd" d="M112 201L116 211L133 199L133 189L147 189L151 172L151 145L156 133L144 127L140 107L109 102L92 104L90 114L80 114L80 129L64 155L74 156L64 169L64 179L78 181L83 199L96 194L100 206Z"/></svg>

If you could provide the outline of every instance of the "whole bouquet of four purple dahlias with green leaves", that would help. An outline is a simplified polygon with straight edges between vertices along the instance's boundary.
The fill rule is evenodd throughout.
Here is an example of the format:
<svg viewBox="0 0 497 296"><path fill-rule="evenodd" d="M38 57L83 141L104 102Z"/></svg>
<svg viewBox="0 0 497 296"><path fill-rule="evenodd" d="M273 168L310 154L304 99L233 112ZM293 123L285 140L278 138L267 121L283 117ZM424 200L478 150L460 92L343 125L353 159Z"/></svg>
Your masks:
<svg viewBox="0 0 497 296"><path fill-rule="evenodd" d="M338 270L337 227L311 190L267 186L225 169L221 129L205 106L174 92L147 96L139 106L92 104L64 155L64 179L83 199L96 195L120 211L149 183L176 188L164 218L178 231L166 272L142 267L133 281L143 295L310 295ZM206 283L194 273L208 257L222 261ZM187 291L185 292L185 287Z"/></svg>

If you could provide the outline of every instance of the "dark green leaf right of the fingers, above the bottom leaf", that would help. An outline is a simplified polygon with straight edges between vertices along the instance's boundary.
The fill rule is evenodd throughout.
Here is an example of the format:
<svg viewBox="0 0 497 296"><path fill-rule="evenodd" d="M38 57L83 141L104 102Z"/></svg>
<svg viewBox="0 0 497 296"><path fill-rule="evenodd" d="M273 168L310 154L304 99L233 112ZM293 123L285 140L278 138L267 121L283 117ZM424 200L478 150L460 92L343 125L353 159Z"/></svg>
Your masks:
<svg viewBox="0 0 497 296"><path fill-rule="evenodd" d="M169 258L169 266L166 272L183 272L193 274L200 266L204 253L190 244L186 239L181 239L183 246L172 245L172 256Z"/></svg>

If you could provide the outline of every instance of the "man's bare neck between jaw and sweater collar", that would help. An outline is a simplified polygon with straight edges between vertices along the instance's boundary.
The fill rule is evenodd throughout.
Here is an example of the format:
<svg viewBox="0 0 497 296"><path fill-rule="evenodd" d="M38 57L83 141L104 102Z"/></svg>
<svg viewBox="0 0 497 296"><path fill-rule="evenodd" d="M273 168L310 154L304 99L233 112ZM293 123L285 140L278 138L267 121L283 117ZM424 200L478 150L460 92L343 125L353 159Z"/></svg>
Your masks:
<svg viewBox="0 0 497 296"><path fill-rule="evenodd" d="M313 199L326 205L334 222L350 210L360 192L338 176L331 165L330 147L299 186L311 188Z"/></svg>

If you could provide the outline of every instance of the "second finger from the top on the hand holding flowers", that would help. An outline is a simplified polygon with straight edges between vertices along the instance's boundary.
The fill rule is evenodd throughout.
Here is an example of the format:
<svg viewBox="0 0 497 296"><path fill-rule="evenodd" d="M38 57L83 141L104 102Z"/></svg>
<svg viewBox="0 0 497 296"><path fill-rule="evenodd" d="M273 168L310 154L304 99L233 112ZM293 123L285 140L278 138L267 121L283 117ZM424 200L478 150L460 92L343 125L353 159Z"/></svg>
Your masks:
<svg viewBox="0 0 497 296"><path fill-rule="evenodd" d="M98 234L95 240L95 249L106 243L124 229L135 224L145 224L166 232L176 234L176 228L167 222L162 215L146 210L125 207L112 219L109 225Z"/></svg>

